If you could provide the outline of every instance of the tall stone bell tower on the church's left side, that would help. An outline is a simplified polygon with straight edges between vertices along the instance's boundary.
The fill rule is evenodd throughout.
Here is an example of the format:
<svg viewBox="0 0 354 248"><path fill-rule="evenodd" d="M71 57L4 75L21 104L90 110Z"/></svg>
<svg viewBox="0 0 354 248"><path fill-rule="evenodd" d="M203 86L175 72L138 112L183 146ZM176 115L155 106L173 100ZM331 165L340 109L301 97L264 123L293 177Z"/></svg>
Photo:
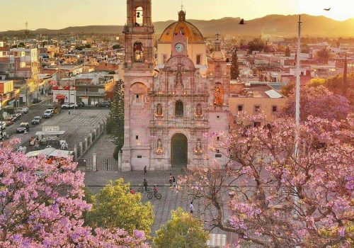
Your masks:
<svg viewBox="0 0 354 248"><path fill-rule="evenodd" d="M151 89L154 89L152 0L127 0L125 34L125 127L122 170L149 168Z"/></svg>

